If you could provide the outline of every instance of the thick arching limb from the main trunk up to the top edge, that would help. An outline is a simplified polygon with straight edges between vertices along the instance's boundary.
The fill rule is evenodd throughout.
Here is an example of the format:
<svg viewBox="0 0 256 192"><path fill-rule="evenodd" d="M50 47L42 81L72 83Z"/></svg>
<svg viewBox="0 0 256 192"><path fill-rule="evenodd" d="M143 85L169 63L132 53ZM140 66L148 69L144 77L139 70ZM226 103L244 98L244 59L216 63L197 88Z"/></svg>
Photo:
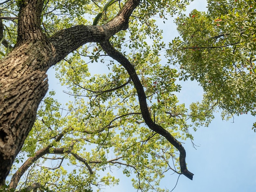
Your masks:
<svg viewBox="0 0 256 192"><path fill-rule="evenodd" d="M52 65L61 61L67 54L87 42L103 42L115 33L128 28L128 20L132 11L139 5L140 0L128 0L117 16L102 26L79 25L63 29L55 33L49 41L53 47L54 60ZM51 66L52 66L51 65Z"/></svg>

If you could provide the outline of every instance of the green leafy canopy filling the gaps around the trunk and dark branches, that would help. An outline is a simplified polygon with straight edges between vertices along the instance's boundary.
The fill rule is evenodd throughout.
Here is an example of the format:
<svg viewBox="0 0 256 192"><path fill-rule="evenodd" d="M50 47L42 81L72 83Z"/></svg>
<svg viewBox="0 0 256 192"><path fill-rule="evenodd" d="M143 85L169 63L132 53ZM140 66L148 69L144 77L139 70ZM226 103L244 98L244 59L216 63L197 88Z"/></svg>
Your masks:
<svg viewBox="0 0 256 192"><path fill-rule="evenodd" d="M1 4L2 57L16 45L16 19L23 3ZM47 0L40 26L45 36L52 37L73 26L104 25L124 3ZM193 10L186 16L182 11L188 3L141 1L129 18L128 30L116 33L110 43L135 68L154 123L177 140L192 141L190 132L208 126L216 109L222 109L223 118L255 115L256 3L211 0L207 13ZM164 42L159 28L175 14L180 37ZM148 128L131 76L103 47L90 42L56 64L56 77L70 101L63 105L53 90L40 103L7 181L11 188L101 190L118 184L111 175L115 167L132 176L135 189L160 192L166 191L160 186L166 172L183 173L177 147ZM108 71L91 75L94 63L106 65ZM191 103L189 109L180 104L177 79L197 80L205 92L202 102Z"/></svg>

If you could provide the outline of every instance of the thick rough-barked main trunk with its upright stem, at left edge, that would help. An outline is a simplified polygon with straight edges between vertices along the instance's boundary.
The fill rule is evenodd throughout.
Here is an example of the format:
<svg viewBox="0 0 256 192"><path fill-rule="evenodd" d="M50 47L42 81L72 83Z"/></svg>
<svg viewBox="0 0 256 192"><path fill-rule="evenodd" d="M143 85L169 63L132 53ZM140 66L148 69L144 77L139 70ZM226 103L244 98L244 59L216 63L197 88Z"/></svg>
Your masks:
<svg viewBox="0 0 256 192"><path fill-rule="evenodd" d="M0 183L36 119L45 96L52 47L40 29L43 0L21 2L16 47L0 61Z"/></svg>

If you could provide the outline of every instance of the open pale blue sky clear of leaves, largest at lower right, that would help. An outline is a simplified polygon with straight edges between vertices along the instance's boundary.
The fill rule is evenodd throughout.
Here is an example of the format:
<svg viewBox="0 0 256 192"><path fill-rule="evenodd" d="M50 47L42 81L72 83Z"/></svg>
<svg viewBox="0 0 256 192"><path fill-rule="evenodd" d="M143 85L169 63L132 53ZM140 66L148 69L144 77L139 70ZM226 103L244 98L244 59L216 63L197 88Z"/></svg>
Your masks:
<svg viewBox="0 0 256 192"><path fill-rule="evenodd" d="M206 0L195 0L188 7L187 13L193 9L206 11L206 6ZM161 28L164 29L164 40L170 41L177 36L171 22ZM94 64L92 70L99 68ZM56 84L58 81L54 79L54 70L50 69L48 74L49 90L57 89L57 94L63 96L62 89ZM203 91L198 83L181 83L182 91L178 94L180 103L186 103L188 106L202 98ZM235 116L229 121L222 121L220 113L216 113L215 116L209 127L200 127L196 132L191 131L194 136L193 142L199 147L195 150L189 140L184 147L188 168L195 175L193 181L180 176L174 192L256 192L256 133L251 129L256 118L245 114ZM106 188L106 192L135 191L131 186L131 178L123 176L120 170L114 171L113 174L120 178L120 184ZM161 183L162 187L172 190L177 177L177 174L166 175Z"/></svg>

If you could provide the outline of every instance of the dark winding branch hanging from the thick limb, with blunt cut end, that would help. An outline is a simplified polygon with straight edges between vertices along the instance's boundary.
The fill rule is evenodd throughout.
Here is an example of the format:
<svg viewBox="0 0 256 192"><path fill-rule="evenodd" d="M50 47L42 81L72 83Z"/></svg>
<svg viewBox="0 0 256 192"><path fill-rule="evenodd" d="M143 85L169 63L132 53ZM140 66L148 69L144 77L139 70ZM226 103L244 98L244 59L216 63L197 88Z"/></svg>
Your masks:
<svg viewBox="0 0 256 192"><path fill-rule="evenodd" d="M145 120L145 123L148 125L150 129L152 129L154 132L164 136L169 143L171 143L174 147L176 147L177 150L180 152L180 169L182 174L184 174L189 179L193 179L193 173L189 172L186 167L186 151L182 144L177 141L168 131L166 131L162 126L157 125L153 122L150 116L150 112L148 111L148 106L146 102L146 95L143 89L143 86L139 80L139 77L137 76L137 73L133 67L133 65L129 62L129 60L122 55L120 52L118 52L116 49L112 47L109 41L101 42L101 47L103 50L112 58L117 60L128 72L130 75L132 82L134 83L134 86L137 90L138 97L139 97L139 105L141 109L142 116Z"/></svg>

